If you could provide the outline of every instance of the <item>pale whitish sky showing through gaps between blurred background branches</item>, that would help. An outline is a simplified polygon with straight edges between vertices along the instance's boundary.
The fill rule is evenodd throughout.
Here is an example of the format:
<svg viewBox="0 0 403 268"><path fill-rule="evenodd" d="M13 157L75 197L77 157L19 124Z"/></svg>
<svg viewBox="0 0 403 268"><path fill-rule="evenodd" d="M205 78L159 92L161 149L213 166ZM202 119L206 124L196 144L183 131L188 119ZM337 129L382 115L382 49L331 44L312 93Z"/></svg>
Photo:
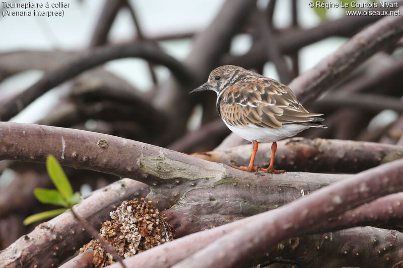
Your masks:
<svg viewBox="0 0 403 268"><path fill-rule="evenodd" d="M3 33L0 42L0 53L15 50L84 50L89 44L95 24L106 0L71 0L70 8L64 8L64 17L35 17L14 16L0 17L0 31ZM114 0L107 0L114 1ZM10 2L10 1L8 1ZM13 3L28 3L18 0ZM47 1L49 4L60 1ZM36 0L31 3L46 3ZM153 36L166 33L187 31L203 31L223 5L223 0L131 0L135 7L138 19L144 34ZM258 5L264 7L268 0L259 0ZM320 21L309 8L308 0L299 0L299 22L302 27L313 27ZM3 11L3 3L1 3ZM287 27L291 23L291 1L278 1L275 10L275 25ZM10 9L15 10L15 9ZM30 9L28 9L30 10ZM52 9L42 9L51 11ZM55 11L60 9L53 9ZM32 9L31 9L32 11ZM344 11L330 9L329 19L343 16ZM115 20L109 39L113 41L126 40L136 35L136 30L130 14L126 10L119 12ZM344 38L328 38L307 46L300 53L301 72L314 66L319 60L332 53L346 41ZM191 49L192 41L165 41L162 47L178 59L184 59ZM248 35L238 35L232 44L234 53L245 53L251 45ZM134 84L141 90L148 90L152 85L145 61L141 59L120 59L108 62L106 68ZM136 75L133 75L136 74ZM157 70L159 78L164 79L168 73L164 68ZM272 63L266 64L263 74L278 79L276 69ZM0 83L0 96L9 92L24 90L42 75L41 71L32 70ZM1 98L1 97L0 97ZM16 122L32 123L56 103L57 88L48 92L31 104L21 114L13 119Z"/></svg>

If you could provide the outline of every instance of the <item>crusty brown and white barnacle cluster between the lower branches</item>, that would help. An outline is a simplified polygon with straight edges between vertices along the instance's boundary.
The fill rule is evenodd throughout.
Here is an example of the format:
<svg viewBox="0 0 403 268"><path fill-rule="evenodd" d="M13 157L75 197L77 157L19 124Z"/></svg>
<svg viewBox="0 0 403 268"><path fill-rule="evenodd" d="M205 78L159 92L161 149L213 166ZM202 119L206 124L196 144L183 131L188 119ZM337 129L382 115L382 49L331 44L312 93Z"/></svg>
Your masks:
<svg viewBox="0 0 403 268"><path fill-rule="evenodd" d="M100 235L122 258L152 248L173 239L173 228L164 220L151 201L134 199L123 203L110 213L111 220L102 224ZM80 248L80 253L94 250L93 263L104 267L115 262L100 243L93 239Z"/></svg>

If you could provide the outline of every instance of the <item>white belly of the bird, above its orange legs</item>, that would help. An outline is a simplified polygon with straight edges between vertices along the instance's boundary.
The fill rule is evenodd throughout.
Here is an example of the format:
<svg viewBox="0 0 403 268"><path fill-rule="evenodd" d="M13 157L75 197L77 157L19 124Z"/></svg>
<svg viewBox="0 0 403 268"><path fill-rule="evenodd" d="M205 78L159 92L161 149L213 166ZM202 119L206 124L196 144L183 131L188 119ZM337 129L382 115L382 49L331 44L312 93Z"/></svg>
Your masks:
<svg viewBox="0 0 403 268"><path fill-rule="evenodd" d="M295 136L299 132L309 128L309 126L303 126L301 124L288 124L283 125L282 128L276 129L262 128L254 125L234 127L228 125L225 120L223 121L232 132L250 142L252 140L257 142L275 142L283 138Z"/></svg>

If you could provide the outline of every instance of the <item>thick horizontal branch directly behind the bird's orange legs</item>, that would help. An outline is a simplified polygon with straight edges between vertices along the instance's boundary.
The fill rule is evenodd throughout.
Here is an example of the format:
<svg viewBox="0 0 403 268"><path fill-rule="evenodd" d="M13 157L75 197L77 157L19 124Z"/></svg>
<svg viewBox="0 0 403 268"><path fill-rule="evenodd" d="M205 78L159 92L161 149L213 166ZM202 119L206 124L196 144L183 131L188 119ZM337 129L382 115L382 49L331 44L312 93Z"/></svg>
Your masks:
<svg viewBox="0 0 403 268"><path fill-rule="evenodd" d="M248 165L252 146L205 153L195 157L227 165ZM268 166L271 144L259 144L255 164ZM362 141L291 138L278 142L275 164L279 169L310 172L359 172L403 157L403 147Z"/></svg>

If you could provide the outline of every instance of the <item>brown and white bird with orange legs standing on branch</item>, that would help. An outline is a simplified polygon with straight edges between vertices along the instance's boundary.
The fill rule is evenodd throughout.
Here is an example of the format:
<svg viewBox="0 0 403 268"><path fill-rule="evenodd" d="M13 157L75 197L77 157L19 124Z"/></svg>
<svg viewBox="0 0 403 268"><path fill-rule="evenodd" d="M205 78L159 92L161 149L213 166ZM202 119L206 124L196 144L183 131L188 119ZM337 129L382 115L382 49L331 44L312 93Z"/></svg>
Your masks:
<svg viewBox="0 0 403 268"><path fill-rule="evenodd" d="M274 168L277 141L322 124L323 114L309 113L285 84L235 65L215 68L206 83L190 93L214 91L216 108L225 125L239 137L252 142L248 166L231 167L254 172L282 173ZM272 143L267 168L254 165L258 144Z"/></svg>

